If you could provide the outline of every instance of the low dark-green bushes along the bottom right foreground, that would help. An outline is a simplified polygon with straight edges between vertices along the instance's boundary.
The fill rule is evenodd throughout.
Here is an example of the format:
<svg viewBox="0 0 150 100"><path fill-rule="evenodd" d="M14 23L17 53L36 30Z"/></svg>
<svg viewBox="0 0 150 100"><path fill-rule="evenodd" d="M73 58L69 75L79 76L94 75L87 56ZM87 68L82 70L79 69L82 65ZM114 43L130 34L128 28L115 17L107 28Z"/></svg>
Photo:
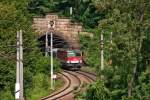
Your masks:
<svg viewBox="0 0 150 100"><path fill-rule="evenodd" d="M86 93L81 95L80 98L81 100L149 100L149 71L150 70L148 69L139 76L137 80L139 84L134 87L133 95L131 97L127 97L127 89L124 89L125 87L121 89L121 84L123 85L123 83L120 83L120 75L112 75L109 72L108 74L112 79L109 78L104 81L97 81L96 83L90 85Z"/></svg>

